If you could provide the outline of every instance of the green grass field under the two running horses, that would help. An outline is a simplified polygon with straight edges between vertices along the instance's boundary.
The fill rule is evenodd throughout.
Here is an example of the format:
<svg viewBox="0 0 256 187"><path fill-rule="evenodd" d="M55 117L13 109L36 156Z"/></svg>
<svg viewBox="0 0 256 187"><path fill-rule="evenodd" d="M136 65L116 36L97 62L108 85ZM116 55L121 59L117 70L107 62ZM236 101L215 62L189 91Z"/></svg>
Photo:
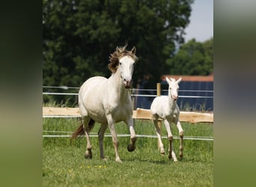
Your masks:
<svg viewBox="0 0 256 187"><path fill-rule="evenodd" d="M73 118L43 118L43 135L70 135L68 132L75 131L78 126L79 122ZM213 137L213 124L182 123L182 126L185 136ZM118 134L129 134L124 123L115 127ZM91 134L98 129L96 123ZM147 120L135 120L135 132L156 135L153 123ZM172 132L178 135L174 124ZM100 159L97 137L91 137L92 159L84 159L84 137L74 140L43 138L43 186L213 186L213 141L184 140L183 159L174 163L168 159L166 135L165 126L162 126L165 156L157 150L156 138L138 137L136 150L128 152L129 137L118 137L123 163L115 162L111 137L104 138L107 162ZM178 144L179 140L174 139L177 156Z"/></svg>

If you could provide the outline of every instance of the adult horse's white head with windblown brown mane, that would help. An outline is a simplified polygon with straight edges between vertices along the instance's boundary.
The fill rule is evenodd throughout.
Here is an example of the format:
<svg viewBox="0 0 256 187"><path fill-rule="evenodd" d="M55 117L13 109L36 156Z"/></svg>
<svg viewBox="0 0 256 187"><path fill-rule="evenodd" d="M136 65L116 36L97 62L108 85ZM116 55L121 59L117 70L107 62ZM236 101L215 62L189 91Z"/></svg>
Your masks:
<svg viewBox="0 0 256 187"><path fill-rule="evenodd" d="M133 66L137 57L135 55L135 46L130 51L127 51L126 48L127 45L115 49L115 52L109 57L110 63L108 67L112 73L116 73L119 68L124 87L130 88L132 85Z"/></svg>

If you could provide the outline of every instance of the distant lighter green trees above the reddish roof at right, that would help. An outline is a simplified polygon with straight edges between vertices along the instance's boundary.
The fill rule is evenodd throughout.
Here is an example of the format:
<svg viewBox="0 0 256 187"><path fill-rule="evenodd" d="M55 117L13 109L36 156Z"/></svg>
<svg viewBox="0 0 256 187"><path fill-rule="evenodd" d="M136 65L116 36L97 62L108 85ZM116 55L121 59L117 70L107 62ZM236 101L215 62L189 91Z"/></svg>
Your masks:
<svg viewBox="0 0 256 187"><path fill-rule="evenodd" d="M207 76L213 73L213 38L204 43L189 40L180 47L174 58L169 58L172 75Z"/></svg>

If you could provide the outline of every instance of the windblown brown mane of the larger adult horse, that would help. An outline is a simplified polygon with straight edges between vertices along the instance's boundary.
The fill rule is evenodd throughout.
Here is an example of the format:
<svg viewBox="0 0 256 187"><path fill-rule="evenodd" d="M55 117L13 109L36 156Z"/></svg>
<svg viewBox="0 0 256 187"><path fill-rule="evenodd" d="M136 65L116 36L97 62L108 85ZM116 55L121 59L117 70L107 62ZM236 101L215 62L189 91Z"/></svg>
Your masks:
<svg viewBox="0 0 256 187"><path fill-rule="evenodd" d="M137 59L137 56L135 55L135 53L132 53L132 50L127 51L127 44L123 47L117 46L117 48L115 49L115 52L113 52L109 56L109 64L108 64L109 70L111 70L112 73L115 73L118 70L119 59L127 55L131 57L134 61Z"/></svg>

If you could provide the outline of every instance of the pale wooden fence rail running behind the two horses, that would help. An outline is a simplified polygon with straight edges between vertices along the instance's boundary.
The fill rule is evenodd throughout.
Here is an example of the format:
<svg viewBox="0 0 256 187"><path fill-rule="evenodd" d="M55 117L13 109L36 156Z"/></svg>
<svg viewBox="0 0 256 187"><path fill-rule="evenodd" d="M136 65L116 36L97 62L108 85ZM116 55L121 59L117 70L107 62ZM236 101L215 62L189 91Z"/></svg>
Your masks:
<svg viewBox="0 0 256 187"><path fill-rule="evenodd" d="M81 117L79 108L57 108L57 107L43 107L43 117L54 116L75 116ZM151 120L152 116L149 109L137 108L132 113L133 119ZM180 121L190 123L213 123L213 114L180 111Z"/></svg>

